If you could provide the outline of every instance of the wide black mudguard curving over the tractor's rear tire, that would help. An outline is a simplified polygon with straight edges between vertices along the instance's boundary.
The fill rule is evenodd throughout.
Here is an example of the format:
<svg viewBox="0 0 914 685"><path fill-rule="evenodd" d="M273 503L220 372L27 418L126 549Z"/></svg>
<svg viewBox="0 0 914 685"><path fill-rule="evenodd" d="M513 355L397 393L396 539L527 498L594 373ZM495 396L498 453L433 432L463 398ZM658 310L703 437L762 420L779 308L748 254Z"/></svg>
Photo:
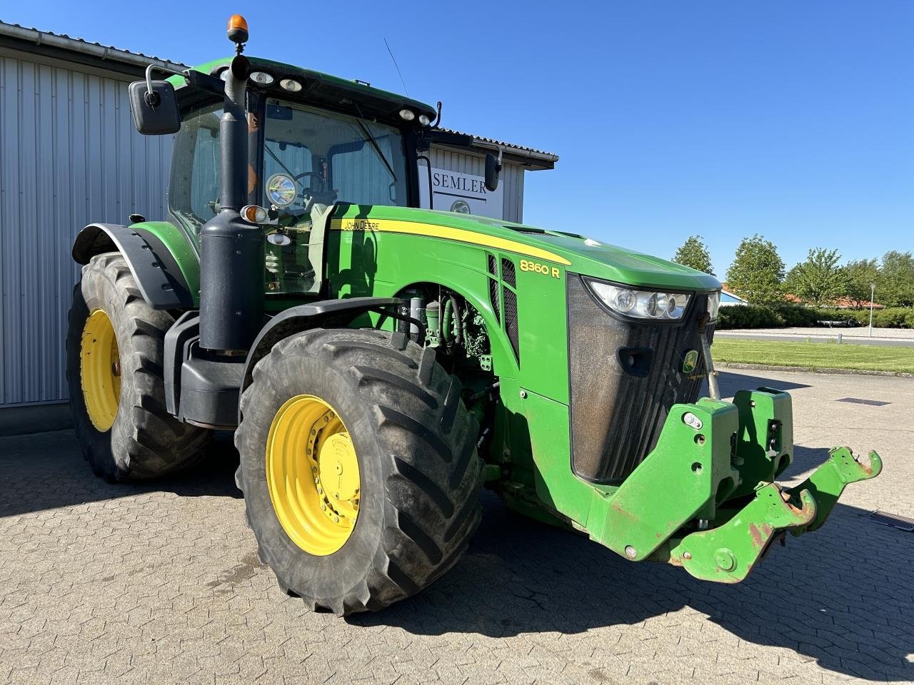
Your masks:
<svg viewBox="0 0 914 685"><path fill-rule="evenodd" d="M150 227L156 227L156 222ZM171 225L168 225L171 227ZM174 227L172 227L174 229ZM176 229L175 229L176 230ZM169 241L173 242L173 241ZM186 247L186 241L185 247ZM143 300L154 310L179 310L196 306L191 290L172 249L151 228L136 224L90 224L73 242L72 255L78 264L102 252L120 252L136 279ZM190 252L189 248L186 252Z"/></svg>

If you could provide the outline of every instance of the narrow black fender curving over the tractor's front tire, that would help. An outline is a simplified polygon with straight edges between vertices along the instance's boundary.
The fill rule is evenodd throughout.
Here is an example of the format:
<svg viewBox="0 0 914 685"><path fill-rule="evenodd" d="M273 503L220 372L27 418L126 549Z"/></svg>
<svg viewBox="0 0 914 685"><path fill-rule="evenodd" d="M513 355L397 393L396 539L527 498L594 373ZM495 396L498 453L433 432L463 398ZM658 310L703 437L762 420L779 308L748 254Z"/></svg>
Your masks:
<svg viewBox="0 0 914 685"><path fill-rule="evenodd" d="M241 381L240 391L250 385L253 379L254 366L264 356L270 353L273 345L283 338L298 332L308 331L312 328L330 326L343 327L351 323L359 314L369 311L396 314L397 306L406 304L400 298L348 298L345 300L322 300L311 304L302 304L291 307L274 316L254 339L250 346L248 358L244 364L244 376ZM399 318L399 315L394 316ZM239 403L239 421L241 420L241 406Z"/></svg>

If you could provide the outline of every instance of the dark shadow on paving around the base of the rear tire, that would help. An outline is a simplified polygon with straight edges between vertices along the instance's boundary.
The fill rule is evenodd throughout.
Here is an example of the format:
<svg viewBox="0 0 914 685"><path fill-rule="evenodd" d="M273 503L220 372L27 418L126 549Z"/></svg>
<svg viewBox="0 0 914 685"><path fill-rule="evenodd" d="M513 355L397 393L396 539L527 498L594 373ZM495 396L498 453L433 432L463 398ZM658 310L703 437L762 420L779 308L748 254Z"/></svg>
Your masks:
<svg viewBox="0 0 914 685"><path fill-rule="evenodd" d="M160 490L181 497L240 498L234 478L237 468L238 452L230 435L220 434L193 468L142 483L97 478L82 458L72 430L0 437L0 516Z"/></svg>

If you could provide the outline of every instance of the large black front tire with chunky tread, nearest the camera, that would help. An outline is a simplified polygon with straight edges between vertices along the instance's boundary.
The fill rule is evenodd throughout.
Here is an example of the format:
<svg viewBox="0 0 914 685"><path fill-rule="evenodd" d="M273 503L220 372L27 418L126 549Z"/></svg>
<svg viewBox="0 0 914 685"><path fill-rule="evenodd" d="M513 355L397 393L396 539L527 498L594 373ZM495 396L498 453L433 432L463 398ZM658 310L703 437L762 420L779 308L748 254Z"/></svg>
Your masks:
<svg viewBox="0 0 914 685"><path fill-rule="evenodd" d="M275 457L268 450L275 449L277 422L298 397L332 407L356 453L355 525L330 553L310 553L293 541L288 514L281 522L271 500L283 495L276 490L275 471L268 466ZM345 615L383 608L430 585L465 550L481 516L478 425L462 403L460 382L436 363L433 350L402 333L298 333L257 364L241 412L236 480L260 558L282 589L301 596L311 609ZM294 450L291 458L305 459L305 451ZM281 489L320 491L311 470L305 462L303 478L287 475Z"/></svg>

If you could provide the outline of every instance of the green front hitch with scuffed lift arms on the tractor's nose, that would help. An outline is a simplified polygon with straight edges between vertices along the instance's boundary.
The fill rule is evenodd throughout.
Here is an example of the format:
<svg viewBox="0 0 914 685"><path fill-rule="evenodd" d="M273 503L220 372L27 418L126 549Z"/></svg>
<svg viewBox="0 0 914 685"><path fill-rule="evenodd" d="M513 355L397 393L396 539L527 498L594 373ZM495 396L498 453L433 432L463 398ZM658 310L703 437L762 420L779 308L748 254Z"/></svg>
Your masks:
<svg viewBox="0 0 914 685"><path fill-rule="evenodd" d="M774 482L792 461L790 395L740 391L670 409L656 448L591 506L591 538L632 561L680 565L696 578L739 583L787 531L820 528L849 483L882 459L834 448L793 488Z"/></svg>

